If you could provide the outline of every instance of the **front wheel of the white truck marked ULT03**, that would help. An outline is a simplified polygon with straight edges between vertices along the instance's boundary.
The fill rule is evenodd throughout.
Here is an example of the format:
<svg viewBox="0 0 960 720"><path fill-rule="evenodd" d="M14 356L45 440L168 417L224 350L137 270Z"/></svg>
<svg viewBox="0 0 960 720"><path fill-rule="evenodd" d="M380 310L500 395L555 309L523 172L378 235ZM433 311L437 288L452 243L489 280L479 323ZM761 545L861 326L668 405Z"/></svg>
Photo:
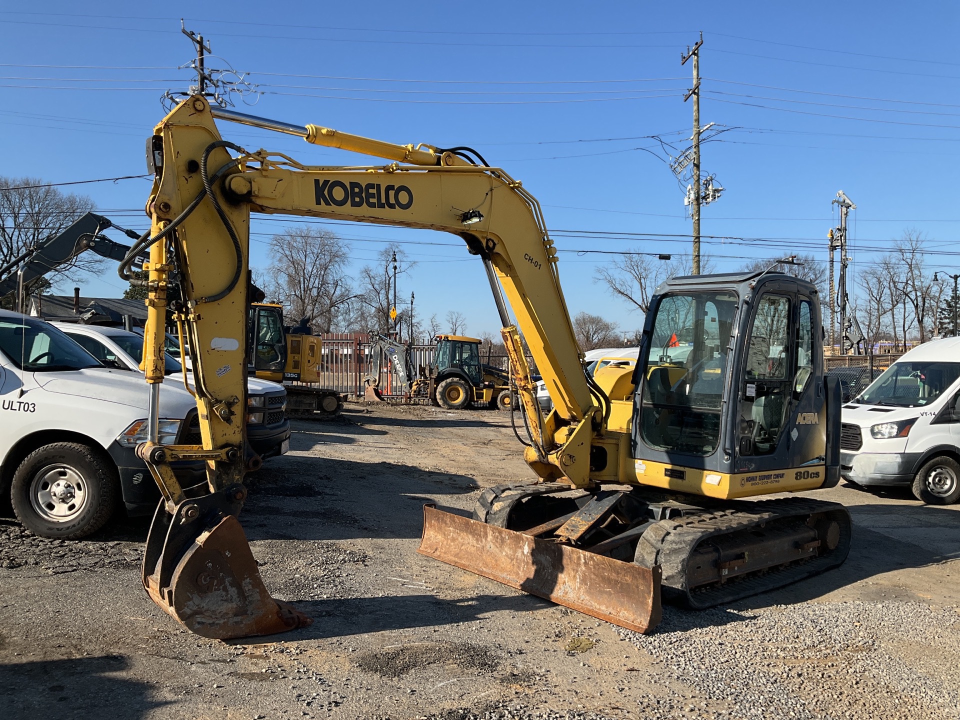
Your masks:
<svg viewBox="0 0 960 720"><path fill-rule="evenodd" d="M43 445L13 473L13 512L41 538L79 540L113 514L119 478L102 453L79 443Z"/></svg>

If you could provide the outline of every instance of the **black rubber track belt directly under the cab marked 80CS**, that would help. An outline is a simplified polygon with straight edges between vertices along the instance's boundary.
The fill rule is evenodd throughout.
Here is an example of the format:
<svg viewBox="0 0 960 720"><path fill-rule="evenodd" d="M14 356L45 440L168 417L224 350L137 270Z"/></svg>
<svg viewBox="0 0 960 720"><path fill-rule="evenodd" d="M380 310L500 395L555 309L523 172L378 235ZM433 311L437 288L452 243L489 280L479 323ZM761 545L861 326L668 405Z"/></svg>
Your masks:
<svg viewBox="0 0 960 720"><path fill-rule="evenodd" d="M806 558L763 573L734 577L726 583L704 589L695 588L692 592L686 587L687 561L704 540L747 530L760 523L819 513L828 513L840 525L840 541L827 555ZM641 536L636 546L635 562L646 567L660 564L664 595L699 610L780 588L842 564L850 552L850 542L850 513L843 505L789 497L742 502L729 509L660 520Z"/></svg>

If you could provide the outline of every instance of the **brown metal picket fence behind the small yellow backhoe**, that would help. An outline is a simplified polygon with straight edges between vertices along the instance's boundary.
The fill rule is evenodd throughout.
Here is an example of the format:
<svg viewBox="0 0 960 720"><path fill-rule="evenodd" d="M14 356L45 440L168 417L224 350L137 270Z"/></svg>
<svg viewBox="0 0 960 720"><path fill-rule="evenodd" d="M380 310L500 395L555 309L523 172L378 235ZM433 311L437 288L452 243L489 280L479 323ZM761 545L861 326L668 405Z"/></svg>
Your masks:
<svg viewBox="0 0 960 720"><path fill-rule="evenodd" d="M321 337L324 341L321 349L321 386L351 397L362 397L366 385L365 379L372 376L375 365L369 336L326 333ZM433 363L435 346L418 344L410 346L409 349L410 361L415 372ZM487 348L481 347L480 360L495 368L502 370L507 368L507 356L503 352L489 352ZM533 359L528 357L527 361L533 368ZM386 358L380 360L378 380L377 387L383 395L402 395L402 391L395 387L393 368Z"/></svg>

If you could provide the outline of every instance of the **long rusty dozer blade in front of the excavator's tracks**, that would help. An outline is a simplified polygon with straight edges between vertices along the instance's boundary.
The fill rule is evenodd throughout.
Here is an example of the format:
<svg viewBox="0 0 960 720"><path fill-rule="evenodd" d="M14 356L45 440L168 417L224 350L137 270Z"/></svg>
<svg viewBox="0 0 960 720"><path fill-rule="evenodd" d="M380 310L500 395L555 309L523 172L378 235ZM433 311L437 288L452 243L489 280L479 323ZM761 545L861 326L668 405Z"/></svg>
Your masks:
<svg viewBox="0 0 960 720"><path fill-rule="evenodd" d="M660 622L660 566L641 567L423 506L421 555L621 628Z"/></svg>

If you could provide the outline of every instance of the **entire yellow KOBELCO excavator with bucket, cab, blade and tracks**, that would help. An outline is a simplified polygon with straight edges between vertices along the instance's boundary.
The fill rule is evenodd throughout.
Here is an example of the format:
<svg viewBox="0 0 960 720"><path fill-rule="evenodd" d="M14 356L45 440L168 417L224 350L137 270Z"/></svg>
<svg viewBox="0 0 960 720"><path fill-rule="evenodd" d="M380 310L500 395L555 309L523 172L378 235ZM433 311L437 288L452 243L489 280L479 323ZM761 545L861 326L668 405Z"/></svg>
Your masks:
<svg viewBox="0 0 960 720"><path fill-rule="evenodd" d="M215 118L386 163L310 166L248 152L221 138ZM473 518L427 506L421 553L640 632L660 618L661 589L706 607L844 561L842 506L738 499L838 480L839 386L824 381L811 284L771 273L670 280L651 302L636 369L594 377L540 204L475 151L290 125L194 96L156 126L147 156L152 227L121 267L129 279L133 257L149 250L150 435L137 452L163 500L143 582L192 631L267 635L309 621L270 596L237 520L244 473L256 465L244 447L252 212L443 230L483 262L536 479L484 491ZM189 338L203 445L158 440L172 277L185 299L171 309ZM545 417L519 331L553 399ZM206 461L205 487L180 487L169 465L180 459Z"/></svg>

